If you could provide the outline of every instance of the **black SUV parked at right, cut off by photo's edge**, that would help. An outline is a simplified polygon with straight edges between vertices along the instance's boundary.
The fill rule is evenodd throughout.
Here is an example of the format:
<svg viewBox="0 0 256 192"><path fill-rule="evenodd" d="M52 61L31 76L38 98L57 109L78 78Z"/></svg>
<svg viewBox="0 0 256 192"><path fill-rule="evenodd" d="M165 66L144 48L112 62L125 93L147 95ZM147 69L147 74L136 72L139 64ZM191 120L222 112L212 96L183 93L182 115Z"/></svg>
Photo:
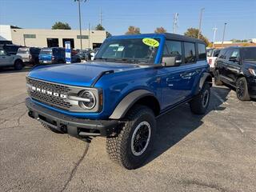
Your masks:
<svg viewBox="0 0 256 192"><path fill-rule="evenodd" d="M214 82L233 86L241 101L256 98L256 46L221 50L215 62Z"/></svg>

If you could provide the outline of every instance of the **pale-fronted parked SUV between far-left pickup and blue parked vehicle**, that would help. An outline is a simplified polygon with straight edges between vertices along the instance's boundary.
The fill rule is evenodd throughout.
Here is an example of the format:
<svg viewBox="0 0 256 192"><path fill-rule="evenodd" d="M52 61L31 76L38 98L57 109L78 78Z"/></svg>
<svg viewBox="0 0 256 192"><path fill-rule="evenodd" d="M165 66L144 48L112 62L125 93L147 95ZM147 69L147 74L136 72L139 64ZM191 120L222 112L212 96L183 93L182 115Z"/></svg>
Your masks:
<svg viewBox="0 0 256 192"><path fill-rule="evenodd" d="M39 63L39 53L40 48L38 47L20 47L18 48L17 55L22 57L23 63L32 63L38 64Z"/></svg>

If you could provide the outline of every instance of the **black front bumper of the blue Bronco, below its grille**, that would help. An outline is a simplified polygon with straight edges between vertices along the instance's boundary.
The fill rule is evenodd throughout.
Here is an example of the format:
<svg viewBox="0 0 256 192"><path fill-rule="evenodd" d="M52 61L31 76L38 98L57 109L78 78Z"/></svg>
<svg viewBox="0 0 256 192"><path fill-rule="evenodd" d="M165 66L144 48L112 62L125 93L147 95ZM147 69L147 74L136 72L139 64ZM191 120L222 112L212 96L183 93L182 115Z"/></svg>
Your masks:
<svg viewBox="0 0 256 192"><path fill-rule="evenodd" d="M26 107L29 109L30 118L35 118L54 130L70 134L76 138L109 136L116 131L119 124L119 121L116 120L74 118L66 114L48 110L33 102L31 98L26 98Z"/></svg>

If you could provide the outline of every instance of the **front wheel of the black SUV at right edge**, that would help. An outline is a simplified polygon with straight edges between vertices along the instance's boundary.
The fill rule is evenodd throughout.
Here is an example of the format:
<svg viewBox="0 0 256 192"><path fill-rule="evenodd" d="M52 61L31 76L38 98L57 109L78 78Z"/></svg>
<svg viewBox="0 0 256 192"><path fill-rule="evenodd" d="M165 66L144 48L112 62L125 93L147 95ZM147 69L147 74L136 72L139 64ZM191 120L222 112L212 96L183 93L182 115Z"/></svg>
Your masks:
<svg viewBox="0 0 256 192"><path fill-rule="evenodd" d="M250 101L250 94L248 92L246 78L244 77L238 78L236 82L236 94L237 94L237 98L240 101Z"/></svg>

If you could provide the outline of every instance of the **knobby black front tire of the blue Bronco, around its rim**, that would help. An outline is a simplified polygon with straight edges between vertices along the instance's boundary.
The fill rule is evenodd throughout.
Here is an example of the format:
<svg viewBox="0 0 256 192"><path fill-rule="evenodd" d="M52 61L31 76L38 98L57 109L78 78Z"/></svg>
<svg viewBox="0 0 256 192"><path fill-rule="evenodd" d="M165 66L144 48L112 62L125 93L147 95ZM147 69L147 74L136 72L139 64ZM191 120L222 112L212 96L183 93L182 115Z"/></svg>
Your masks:
<svg viewBox="0 0 256 192"><path fill-rule="evenodd" d="M141 122L150 124L150 142L142 154L135 156L131 150L131 140L134 130ZM118 136L106 138L106 150L114 162L128 170L136 169L142 166L153 149L156 134L154 112L147 106L136 105L126 114L124 125L120 129Z"/></svg>

